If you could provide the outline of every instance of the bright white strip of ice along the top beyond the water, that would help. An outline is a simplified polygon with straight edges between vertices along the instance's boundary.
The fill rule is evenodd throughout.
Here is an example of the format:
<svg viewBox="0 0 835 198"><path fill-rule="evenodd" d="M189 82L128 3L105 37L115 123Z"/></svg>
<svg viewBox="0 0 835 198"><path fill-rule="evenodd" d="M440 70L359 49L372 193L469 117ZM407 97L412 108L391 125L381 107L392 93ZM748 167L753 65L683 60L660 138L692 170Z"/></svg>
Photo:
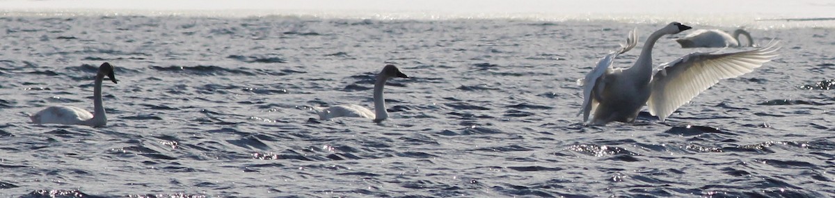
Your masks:
<svg viewBox="0 0 835 198"><path fill-rule="evenodd" d="M605 5L601 6L601 5ZM716 7L721 5L721 7ZM627 8L625 8L627 7ZM375 20L510 19L544 22L615 21L631 23L686 22L714 27L835 27L827 1L709 0L697 4L649 1L210 1L12 0L0 5L4 17L15 16L181 16L301 17Z"/></svg>

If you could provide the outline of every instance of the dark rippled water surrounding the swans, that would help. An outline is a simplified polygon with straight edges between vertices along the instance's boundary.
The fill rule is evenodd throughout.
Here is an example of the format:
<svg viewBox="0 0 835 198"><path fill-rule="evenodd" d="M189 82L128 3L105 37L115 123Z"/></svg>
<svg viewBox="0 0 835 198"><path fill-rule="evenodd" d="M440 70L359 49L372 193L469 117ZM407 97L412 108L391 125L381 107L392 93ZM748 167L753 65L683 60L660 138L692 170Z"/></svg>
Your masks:
<svg viewBox="0 0 835 198"><path fill-rule="evenodd" d="M832 29L751 29L781 56L666 122L583 127L574 81L633 27L642 43L666 22L0 23L3 197L835 196ZM665 38L655 62L688 52ZM92 110L102 62L120 80L104 87L109 126L29 123L45 106ZM387 63L412 77L389 81L389 120L307 111L372 106Z"/></svg>

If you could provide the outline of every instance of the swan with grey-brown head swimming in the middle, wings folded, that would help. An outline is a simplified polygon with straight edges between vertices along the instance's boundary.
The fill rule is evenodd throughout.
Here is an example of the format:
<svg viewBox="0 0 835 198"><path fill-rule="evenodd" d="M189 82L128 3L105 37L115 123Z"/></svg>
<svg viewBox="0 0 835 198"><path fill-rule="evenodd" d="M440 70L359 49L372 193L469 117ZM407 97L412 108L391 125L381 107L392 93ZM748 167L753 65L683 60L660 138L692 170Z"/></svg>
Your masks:
<svg viewBox="0 0 835 198"><path fill-rule="evenodd" d="M382 67L382 72L377 74L377 82L374 82L374 111L368 110L366 107L358 105L337 105L330 107L314 106L313 111L319 114L320 120L329 120L334 117L364 117L379 122L388 118L386 111L386 101L382 97L382 87L386 86L386 81L392 77L405 77L406 74L400 72L394 65L388 64Z"/></svg>

